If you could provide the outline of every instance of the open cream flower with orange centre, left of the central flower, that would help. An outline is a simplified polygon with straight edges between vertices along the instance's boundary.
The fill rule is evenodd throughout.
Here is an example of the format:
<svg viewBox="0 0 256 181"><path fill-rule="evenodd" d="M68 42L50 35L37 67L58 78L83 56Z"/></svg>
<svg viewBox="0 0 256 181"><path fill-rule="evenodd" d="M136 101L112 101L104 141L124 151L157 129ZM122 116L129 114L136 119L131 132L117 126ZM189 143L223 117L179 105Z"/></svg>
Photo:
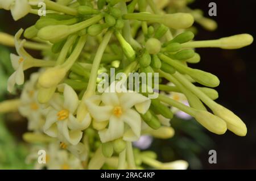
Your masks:
<svg viewBox="0 0 256 181"><path fill-rule="evenodd" d="M46 116L44 133L52 137L64 137L72 145L77 145L82 138L82 130L88 127L90 115L81 122L75 117L79 99L72 87L62 84L58 86L60 94L53 95L49 102L49 112Z"/></svg>

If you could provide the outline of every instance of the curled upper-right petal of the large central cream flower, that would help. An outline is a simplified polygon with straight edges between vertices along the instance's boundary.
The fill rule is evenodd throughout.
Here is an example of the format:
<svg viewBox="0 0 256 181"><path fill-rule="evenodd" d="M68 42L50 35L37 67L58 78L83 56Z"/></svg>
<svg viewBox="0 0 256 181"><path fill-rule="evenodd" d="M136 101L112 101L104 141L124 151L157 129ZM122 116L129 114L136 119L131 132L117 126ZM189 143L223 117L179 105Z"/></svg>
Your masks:
<svg viewBox="0 0 256 181"><path fill-rule="evenodd" d="M137 92L124 92L119 98L123 110L135 106L139 113L145 113L150 107L151 100Z"/></svg>

